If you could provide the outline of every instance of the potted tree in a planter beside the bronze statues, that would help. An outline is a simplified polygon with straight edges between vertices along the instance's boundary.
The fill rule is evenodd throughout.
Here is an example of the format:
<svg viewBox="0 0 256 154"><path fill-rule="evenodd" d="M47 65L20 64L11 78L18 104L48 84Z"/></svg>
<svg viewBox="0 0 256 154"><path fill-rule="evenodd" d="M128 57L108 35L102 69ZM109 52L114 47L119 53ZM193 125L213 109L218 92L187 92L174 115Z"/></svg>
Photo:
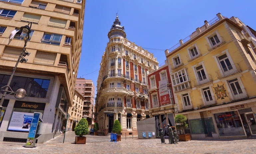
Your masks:
<svg viewBox="0 0 256 154"><path fill-rule="evenodd" d="M187 118L184 115L176 115L174 117L174 121L176 123L176 128L179 129L179 141L190 141L190 134L185 134L184 129L188 127ZM180 130L182 130L183 134L181 134Z"/></svg>

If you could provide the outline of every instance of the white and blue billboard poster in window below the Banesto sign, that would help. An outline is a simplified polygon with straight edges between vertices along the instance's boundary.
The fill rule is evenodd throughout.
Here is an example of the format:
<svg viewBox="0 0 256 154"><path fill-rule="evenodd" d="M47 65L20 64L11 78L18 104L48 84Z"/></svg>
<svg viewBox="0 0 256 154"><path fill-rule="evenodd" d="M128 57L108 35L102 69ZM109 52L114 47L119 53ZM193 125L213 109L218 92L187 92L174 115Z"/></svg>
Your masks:
<svg viewBox="0 0 256 154"><path fill-rule="evenodd" d="M13 112L8 130L29 131L33 113Z"/></svg>

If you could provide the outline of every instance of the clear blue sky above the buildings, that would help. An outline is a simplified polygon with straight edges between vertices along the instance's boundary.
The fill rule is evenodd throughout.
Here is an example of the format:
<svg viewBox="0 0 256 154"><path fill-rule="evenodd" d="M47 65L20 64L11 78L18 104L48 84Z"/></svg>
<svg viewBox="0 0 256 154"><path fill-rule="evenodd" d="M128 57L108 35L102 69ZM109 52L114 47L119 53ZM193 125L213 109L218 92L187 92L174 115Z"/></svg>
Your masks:
<svg viewBox="0 0 256 154"><path fill-rule="evenodd" d="M97 86L100 63L108 32L116 13L127 39L151 50L159 64L164 50L177 44L196 28L221 13L238 17L256 30L255 0L86 0L82 55L78 78L92 79ZM96 94L96 93L95 93Z"/></svg>

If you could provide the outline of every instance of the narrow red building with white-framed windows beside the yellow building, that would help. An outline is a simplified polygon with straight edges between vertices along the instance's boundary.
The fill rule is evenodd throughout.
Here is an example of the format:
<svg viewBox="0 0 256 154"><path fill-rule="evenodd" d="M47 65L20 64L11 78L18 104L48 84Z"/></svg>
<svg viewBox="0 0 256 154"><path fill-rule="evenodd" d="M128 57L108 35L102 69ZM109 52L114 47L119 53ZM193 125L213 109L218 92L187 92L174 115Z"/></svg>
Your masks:
<svg viewBox="0 0 256 154"><path fill-rule="evenodd" d="M171 86L170 72L167 61L159 66L154 72L147 75L149 112L151 117L155 117L155 132L159 134L160 128L163 129L164 136L168 136L167 124L174 129L175 102Z"/></svg>

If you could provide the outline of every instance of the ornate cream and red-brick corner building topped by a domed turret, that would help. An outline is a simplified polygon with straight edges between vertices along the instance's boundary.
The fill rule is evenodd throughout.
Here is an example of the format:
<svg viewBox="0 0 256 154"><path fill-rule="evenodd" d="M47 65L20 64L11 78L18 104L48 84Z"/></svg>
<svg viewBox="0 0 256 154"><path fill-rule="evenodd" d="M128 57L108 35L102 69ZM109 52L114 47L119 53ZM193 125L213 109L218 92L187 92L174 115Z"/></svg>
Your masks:
<svg viewBox="0 0 256 154"><path fill-rule="evenodd" d="M120 25L117 16L97 80L96 118L105 135L112 132L116 119L123 134L137 134L136 121L149 117L147 74L158 68L154 55L126 39Z"/></svg>

